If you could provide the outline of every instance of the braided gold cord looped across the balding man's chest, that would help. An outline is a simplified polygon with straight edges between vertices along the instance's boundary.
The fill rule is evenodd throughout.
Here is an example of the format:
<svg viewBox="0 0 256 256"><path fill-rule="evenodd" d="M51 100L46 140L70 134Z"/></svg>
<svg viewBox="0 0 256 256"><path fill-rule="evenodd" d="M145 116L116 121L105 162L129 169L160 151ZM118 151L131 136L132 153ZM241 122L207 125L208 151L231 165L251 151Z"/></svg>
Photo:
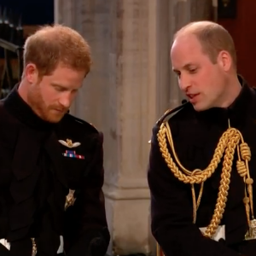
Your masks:
<svg viewBox="0 0 256 256"><path fill-rule="evenodd" d="M226 207L228 191L230 189L230 175L232 171L232 165L234 155L237 150L238 160L236 162L236 169L245 183L245 198L244 204L247 213L247 223L249 230L245 236L246 240L256 239L256 220L253 213L253 179L250 177L248 161L251 160L251 151L247 143L244 142L241 132L235 128L230 127L227 131L224 131L222 137L218 141L218 145L215 148L214 154L210 164L205 170L195 169L194 171L187 170L181 162L178 160L177 153L174 148L172 140L172 131L168 122L160 125L160 131L157 134L158 143L160 146L160 152L162 157L166 161L166 165L172 171L173 175L183 183L189 183L192 190L193 201L193 223L196 221L196 212L200 206L201 196L203 193L203 184L207 178L211 177L216 171L221 159L223 160L223 167L221 173L220 185L218 188L218 199L212 215L212 220L207 226L207 230L204 236L211 238L218 225L223 218L224 209ZM167 141L171 148L171 153L168 150ZM174 158L174 160L172 159ZM201 184L200 193L198 199L195 196L195 183Z"/></svg>

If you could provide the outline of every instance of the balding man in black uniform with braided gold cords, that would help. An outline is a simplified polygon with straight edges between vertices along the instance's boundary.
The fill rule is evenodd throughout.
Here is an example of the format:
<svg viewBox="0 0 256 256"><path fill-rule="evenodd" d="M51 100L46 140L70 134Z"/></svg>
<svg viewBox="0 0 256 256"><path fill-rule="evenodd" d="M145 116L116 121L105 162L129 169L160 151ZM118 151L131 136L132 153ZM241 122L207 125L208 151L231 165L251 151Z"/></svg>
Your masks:
<svg viewBox="0 0 256 256"><path fill-rule="evenodd" d="M153 235L166 256L253 256L256 92L236 73L229 32L214 22L180 29L171 60L189 102L153 129Z"/></svg>

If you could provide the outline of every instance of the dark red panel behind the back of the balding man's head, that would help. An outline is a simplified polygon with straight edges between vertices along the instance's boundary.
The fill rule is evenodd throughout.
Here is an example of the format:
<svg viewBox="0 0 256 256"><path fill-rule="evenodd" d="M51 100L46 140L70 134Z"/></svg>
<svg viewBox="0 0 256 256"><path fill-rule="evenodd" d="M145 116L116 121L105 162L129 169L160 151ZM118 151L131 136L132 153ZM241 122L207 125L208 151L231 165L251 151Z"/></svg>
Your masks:
<svg viewBox="0 0 256 256"><path fill-rule="evenodd" d="M234 38L237 52L238 73L247 82L256 86L256 1L237 0L236 19L218 19L218 23L224 26Z"/></svg>

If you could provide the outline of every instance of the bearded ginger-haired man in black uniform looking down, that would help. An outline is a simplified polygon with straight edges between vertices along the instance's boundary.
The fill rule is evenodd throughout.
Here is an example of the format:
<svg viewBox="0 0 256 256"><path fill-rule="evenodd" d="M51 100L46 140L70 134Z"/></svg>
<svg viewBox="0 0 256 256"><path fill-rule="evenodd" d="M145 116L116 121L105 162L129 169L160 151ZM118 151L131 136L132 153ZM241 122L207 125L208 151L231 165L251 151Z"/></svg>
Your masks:
<svg viewBox="0 0 256 256"><path fill-rule="evenodd" d="M22 79L0 102L1 256L107 251L102 133L68 113L90 65L67 26L26 39Z"/></svg>

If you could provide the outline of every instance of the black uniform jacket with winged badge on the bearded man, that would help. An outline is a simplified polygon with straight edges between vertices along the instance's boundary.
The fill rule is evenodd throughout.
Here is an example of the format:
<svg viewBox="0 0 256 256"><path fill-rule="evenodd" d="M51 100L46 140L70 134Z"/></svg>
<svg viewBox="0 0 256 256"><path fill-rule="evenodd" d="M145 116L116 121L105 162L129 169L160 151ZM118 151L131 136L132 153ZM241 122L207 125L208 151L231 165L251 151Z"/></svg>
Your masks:
<svg viewBox="0 0 256 256"><path fill-rule="evenodd" d="M109 233L102 195L102 133L66 114L49 124L17 87L0 102L0 255L104 255ZM74 204L65 211L66 196Z"/></svg>

